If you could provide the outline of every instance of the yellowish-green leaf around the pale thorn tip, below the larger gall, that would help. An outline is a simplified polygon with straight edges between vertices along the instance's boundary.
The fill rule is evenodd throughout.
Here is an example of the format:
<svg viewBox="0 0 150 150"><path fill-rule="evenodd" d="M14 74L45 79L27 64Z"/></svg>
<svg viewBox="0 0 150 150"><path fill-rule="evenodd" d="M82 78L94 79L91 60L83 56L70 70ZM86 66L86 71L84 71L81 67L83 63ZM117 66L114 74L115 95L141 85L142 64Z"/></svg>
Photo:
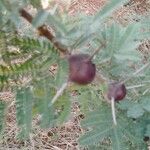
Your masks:
<svg viewBox="0 0 150 150"><path fill-rule="evenodd" d="M71 101L67 92L62 93L56 102L50 105L56 92L50 82L50 78L45 78L37 82L33 90L35 99L34 109L37 110L35 113L41 116L40 125L42 128L62 124L67 120L71 111Z"/></svg>

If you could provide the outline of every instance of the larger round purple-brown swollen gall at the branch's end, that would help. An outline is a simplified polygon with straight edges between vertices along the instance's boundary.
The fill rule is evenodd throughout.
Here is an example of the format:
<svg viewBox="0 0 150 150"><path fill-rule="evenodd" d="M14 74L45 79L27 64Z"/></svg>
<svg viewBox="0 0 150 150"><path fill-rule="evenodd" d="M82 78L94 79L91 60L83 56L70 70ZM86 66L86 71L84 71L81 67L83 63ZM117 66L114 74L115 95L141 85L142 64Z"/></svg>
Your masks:
<svg viewBox="0 0 150 150"><path fill-rule="evenodd" d="M70 81L80 85L86 85L94 80L96 67L89 58L90 56L88 54L75 54L69 56Z"/></svg>

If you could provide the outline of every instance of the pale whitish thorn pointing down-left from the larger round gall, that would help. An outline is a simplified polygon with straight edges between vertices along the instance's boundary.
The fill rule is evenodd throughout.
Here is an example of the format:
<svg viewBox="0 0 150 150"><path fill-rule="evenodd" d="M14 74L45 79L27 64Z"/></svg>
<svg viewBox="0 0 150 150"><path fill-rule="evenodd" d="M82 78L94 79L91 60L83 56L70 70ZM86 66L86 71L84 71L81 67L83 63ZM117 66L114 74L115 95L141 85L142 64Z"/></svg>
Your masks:
<svg viewBox="0 0 150 150"><path fill-rule="evenodd" d="M58 97L61 96L63 91L66 89L67 85L68 85L68 82L63 83L61 88L57 91L56 95L53 97L53 99L52 99L52 101L51 101L49 106L53 105L56 102Z"/></svg>

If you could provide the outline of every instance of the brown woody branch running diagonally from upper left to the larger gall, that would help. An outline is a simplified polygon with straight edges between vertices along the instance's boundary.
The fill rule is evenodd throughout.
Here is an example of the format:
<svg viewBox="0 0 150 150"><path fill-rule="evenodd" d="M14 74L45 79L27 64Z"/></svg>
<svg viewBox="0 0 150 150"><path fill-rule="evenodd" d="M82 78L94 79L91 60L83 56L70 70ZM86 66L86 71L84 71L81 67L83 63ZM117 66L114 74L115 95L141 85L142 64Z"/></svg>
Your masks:
<svg viewBox="0 0 150 150"><path fill-rule="evenodd" d="M33 17L25 9L20 9L19 13L29 23L32 23ZM61 43L59 43L58 41L55 41L54 35L48 30L46 25L42 25L38 27L37 30L40 33L40 36L43 36L47 38L49 41L51 41L60 52L62 52L65 55L69 54L68 49L63 48Z"/></svg>

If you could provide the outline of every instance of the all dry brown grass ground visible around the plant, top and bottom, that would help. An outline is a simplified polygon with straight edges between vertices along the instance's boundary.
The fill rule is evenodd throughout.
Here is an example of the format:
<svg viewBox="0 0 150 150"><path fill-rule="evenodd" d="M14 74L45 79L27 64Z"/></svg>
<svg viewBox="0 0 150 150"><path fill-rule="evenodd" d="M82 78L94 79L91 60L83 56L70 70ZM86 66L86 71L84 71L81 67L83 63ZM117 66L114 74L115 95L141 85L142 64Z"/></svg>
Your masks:
<svg viewBox="0 0 150 150"><path fill-rule="evenodd" d="M57 0L56 0L57 2ZM85 12L92 15L99 10L106 0L74 0L68 7L69 13L74 14L76 11ZM60 9L63 9L64 3L59 1ZM145 14L150 8L150 3L147 0L132 0L114 13L114 19L122 24L127 24L133 21L132 14ZM144 41L139 50L143 54L143 61L146 61L150 56L150 41ZM15 117L15 102L14 95L6 91L0 94L0 98L10 104L7 112L6 129L4 136L0 141L0 150L79 150L77 139L83 130L80 126L82 115L77 103L72 105L71 118L61 127L42 130L39 127L38 116L33 120L33 133L30 139L26 142L17 140L17 132L19 131L16 125Z"/></svg>

